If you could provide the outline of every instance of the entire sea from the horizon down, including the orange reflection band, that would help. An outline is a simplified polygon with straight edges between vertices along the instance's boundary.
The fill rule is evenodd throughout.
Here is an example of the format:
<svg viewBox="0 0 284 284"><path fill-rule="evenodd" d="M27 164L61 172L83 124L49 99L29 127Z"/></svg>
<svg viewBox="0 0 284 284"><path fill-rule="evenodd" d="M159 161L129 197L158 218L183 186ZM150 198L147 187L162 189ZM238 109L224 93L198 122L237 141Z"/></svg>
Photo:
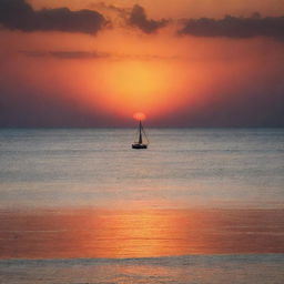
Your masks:
<svg viewBox="0 0 284 284"><path fill-rule="evenodd" d="M0 129L0 283L284 283L284 129Z"/></svg>

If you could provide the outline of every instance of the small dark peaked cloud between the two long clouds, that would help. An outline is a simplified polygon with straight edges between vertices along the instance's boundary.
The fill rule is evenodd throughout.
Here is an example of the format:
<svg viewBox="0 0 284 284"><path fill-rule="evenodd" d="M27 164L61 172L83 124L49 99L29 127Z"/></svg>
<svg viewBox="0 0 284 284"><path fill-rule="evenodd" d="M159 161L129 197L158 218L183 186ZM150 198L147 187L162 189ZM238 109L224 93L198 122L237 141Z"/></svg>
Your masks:
<svg viewBox="0 0 284 284"><path fill-rule="evenodd" d="M129 23L131 26L138 27L145 33L155 32L158 29L164 27L168 20L149 20L143 7L135 4L130 13Z"/></svg>

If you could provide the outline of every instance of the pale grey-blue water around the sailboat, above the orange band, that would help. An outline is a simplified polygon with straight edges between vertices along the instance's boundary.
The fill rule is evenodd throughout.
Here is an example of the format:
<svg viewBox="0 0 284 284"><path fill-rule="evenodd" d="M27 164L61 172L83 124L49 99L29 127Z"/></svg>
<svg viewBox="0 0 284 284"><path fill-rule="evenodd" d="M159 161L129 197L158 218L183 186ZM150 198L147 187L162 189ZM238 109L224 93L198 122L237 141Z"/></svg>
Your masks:
<svg viewBox="0 0 284 284"><path fill-rule="evenodd" d="M0 130L0 207L282 207L283 129Z"/></svg>

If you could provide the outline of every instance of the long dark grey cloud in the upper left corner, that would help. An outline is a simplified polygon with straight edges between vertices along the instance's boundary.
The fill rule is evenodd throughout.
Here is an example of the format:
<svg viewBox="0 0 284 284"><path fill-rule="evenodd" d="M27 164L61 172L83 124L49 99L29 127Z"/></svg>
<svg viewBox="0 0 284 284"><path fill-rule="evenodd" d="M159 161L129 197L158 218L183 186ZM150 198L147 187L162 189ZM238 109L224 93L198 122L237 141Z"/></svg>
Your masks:
<svg viewBox="0 0 284 284"><path fill-rule="evenodd" d="M91 10L36 11L24 0L0 0L0 24L10 30L97 33L105 23L102 14Z"/></svg>

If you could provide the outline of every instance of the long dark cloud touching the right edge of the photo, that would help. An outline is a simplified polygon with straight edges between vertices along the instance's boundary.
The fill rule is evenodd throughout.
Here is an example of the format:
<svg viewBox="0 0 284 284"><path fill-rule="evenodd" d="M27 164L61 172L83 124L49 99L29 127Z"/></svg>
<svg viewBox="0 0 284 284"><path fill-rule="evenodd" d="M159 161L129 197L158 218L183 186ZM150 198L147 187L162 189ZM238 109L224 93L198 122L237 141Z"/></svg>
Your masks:
<svg viewBox="0 0 284 284"><path fill-rule="evenodd" d="M253 38L270 37L284 40L284 17L261 18L254 13L251 18L226 16L224 19L209 18L185 21L180 34L195 37Z"/></svg>

